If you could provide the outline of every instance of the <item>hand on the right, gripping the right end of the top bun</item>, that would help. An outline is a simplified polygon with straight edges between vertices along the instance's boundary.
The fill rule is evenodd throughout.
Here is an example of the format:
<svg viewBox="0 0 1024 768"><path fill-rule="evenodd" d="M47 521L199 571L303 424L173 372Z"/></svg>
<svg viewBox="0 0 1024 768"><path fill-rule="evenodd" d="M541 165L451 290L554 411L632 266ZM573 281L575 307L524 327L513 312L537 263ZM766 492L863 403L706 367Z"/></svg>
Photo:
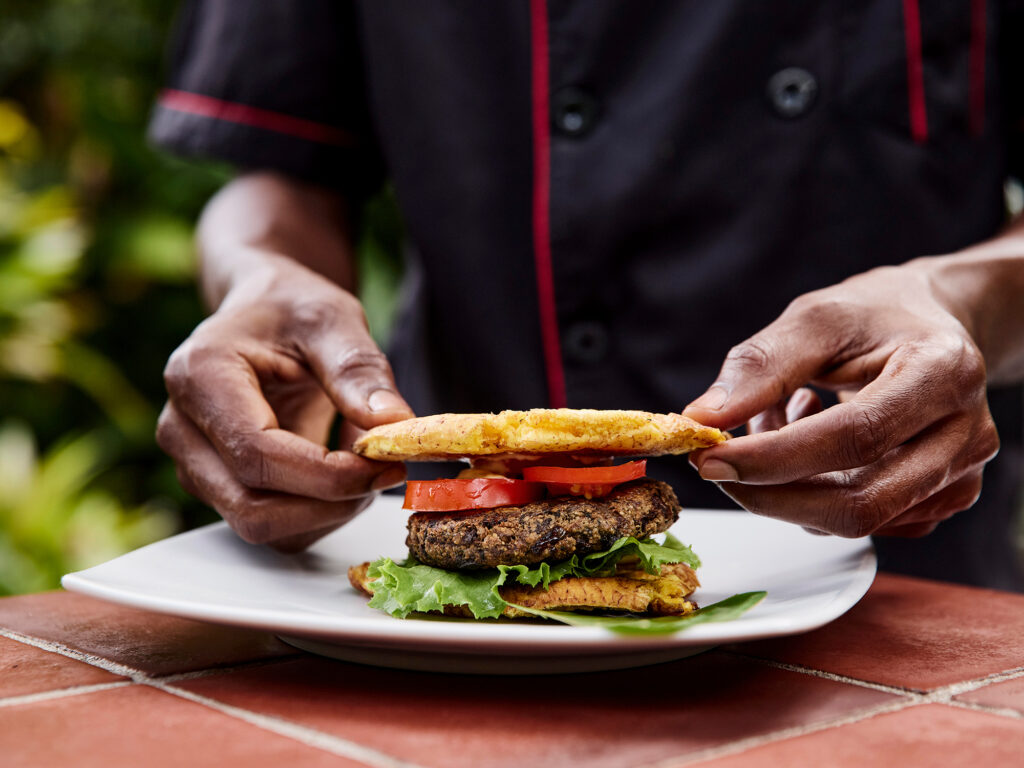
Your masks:
<svg viewBox="0 0 1024 768"><path fill-rule="evenodd" d="M684 411L753 433L691 463L748 510L814 531L930 532L974 504L998 450L985 360L947 304L918 262L801 296ZM840 404L821 411L807 384Z"/></svg>

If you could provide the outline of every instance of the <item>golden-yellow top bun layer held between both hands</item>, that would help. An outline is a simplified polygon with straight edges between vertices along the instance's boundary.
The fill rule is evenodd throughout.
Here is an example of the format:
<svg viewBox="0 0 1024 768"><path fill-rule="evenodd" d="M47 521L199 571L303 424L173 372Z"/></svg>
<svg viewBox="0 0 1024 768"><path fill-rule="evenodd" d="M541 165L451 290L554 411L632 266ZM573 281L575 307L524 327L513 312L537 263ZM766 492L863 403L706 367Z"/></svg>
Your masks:
<svg viewBox="0 0 1024 768"><path fill-rule="evenodd" d="M660 456L686 454L726 435L681 414L534 409L500 414L437 414L374 427L352 450L378 461L472 457Z"/></svg>

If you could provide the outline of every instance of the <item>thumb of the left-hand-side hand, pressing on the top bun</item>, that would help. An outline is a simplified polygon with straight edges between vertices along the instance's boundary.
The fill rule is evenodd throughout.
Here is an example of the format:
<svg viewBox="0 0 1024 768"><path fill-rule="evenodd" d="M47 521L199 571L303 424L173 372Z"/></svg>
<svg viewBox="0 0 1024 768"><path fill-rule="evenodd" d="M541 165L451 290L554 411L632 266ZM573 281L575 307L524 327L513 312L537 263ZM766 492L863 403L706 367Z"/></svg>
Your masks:
<svg viewBox="0 0 1024 768"><path fill-rule="evenodd" d="M338 322L302 341L303 352L344 419L370 429L415 414L398 394L391 366L365 321Z"/></svg>

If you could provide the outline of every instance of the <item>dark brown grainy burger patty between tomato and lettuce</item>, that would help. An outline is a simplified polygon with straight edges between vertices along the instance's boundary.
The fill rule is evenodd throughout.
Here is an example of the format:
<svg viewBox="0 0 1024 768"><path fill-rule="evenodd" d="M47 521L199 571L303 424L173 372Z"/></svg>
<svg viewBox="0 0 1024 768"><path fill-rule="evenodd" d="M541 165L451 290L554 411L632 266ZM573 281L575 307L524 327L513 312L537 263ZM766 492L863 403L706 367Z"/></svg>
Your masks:
<svg viewBox="0 0 1024 768"><path fill-rule="evenodd" d="M544 499L482 512L418 512L409 518L410 553L449 570L532 565L583 557L623 537L643 539L668 530L679 500L660 480L620 485L600 499Z"/></svg>

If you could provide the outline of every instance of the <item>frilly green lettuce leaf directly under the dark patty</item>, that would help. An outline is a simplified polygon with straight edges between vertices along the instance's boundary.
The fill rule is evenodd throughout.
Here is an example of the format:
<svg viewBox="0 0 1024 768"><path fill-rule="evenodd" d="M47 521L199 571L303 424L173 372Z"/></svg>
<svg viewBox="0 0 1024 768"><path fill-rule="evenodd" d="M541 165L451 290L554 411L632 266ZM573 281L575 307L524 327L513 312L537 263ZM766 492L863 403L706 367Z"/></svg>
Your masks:
<svg viewBox="0 0 1024 768"><path fill-rule="evenodd" d="M665 543L653 539L624 537L604 552L594 552L580 558L573 555L554 564L542 562L528 565L499 565L476 571L454 571L425 565L410 557L401 563L383 557L370 564L368 577L375 580L370 606L393 616L404 618L414 611L442 610L445 605L465 605L476 618L496 618L508 603L498 588L503 584L524 584L547 589L552 582L566 577L593 577L611 573L626 557L635 557L648 573L656 573L662 565L685 562L690 567L700 565L700 559L671 534Z"/></svg>

